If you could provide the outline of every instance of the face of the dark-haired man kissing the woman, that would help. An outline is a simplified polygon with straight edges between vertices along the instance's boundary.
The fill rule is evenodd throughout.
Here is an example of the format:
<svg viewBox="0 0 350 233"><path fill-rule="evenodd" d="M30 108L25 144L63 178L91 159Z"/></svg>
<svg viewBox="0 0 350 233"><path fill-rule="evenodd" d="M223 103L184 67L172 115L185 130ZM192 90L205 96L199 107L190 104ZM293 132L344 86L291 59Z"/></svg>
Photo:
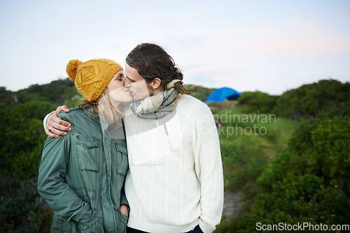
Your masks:
<svg viewBox="0 0 350 233"><path fill-rule="evenodd" d="M125 80L125 87L129 87L129 91L134 100L143 100L152 95L151 84L146 82L137 69L126 64L125 76L127 77L127 80Z"/></svg>

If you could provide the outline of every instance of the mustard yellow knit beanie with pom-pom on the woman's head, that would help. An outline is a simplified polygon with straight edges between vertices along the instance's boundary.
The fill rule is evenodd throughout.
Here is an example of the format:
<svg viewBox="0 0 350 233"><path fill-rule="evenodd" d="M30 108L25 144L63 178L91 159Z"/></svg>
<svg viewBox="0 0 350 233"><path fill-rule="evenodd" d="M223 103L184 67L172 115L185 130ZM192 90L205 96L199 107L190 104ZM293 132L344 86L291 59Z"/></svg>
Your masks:
<svg viewBox="0 0 350 233"><path fill-rule="evenodd" d="M101 96L119 70L123 68L109 59L92 59L84 63L71 60L66 66L66 73L76 84L76 89L90 102Z"/></svg>

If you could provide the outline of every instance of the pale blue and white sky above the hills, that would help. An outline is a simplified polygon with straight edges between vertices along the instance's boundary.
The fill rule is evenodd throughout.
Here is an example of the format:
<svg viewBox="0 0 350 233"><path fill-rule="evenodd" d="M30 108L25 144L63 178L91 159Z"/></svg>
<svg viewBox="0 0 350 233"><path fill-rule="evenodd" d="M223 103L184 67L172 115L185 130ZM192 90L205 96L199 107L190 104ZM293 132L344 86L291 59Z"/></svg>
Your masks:
<svg viewBox="0 0 350 233"><path fill-rule="evenodd" d="M172 55L186 84L281 94L350 82L349 0L0 0L0 86L65 78L71 59L125 66L138 44Z"/></svg>

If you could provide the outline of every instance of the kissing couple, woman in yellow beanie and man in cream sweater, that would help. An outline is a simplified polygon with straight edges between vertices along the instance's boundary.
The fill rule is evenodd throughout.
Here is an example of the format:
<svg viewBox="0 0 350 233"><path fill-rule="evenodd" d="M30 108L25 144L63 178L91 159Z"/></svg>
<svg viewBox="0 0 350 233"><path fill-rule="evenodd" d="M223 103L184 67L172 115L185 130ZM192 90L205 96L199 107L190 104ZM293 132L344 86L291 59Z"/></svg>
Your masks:
<svg viewBox="0 0 350 233"><path fill-rule="evenodd" d="M223 210L218 133L172 57L144 43L125 75L108 59L70 61L67 73L86 99L44 120L38 191L55 213L52 232L213 232Z"/></svg>

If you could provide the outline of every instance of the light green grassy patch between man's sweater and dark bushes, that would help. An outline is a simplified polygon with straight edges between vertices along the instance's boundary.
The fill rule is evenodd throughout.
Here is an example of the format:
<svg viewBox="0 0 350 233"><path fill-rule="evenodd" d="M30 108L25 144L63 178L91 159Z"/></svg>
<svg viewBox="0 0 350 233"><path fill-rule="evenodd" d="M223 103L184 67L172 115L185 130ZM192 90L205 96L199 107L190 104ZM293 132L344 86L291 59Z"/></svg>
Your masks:
<svg viewBox="0 0 350 233"><path fill-rule="evenodd" d="M226 108L214 117L220 123L225 190L232 191L253 186L275 154L288 147L297 126L296 121L267 114L243 114L239 107Z"/></svg>

